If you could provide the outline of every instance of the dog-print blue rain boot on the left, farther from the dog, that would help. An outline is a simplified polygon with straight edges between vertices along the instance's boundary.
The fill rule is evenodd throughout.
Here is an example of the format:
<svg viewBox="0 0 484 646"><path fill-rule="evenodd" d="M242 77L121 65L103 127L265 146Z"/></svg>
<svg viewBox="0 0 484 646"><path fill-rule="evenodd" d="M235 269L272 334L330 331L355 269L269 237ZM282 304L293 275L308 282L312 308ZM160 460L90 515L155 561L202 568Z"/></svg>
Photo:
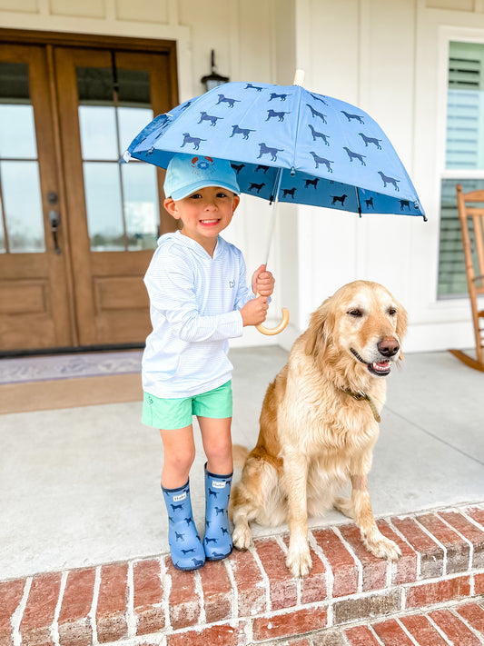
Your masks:
<svg viewBox="0 0 484 646"><path fill-rule="evenodd" d="M202 541L193 521L189 483L177 489L165 489L163 498L168 512L168 542L173 566L177 570L198 570L205 563Z"/></svg>

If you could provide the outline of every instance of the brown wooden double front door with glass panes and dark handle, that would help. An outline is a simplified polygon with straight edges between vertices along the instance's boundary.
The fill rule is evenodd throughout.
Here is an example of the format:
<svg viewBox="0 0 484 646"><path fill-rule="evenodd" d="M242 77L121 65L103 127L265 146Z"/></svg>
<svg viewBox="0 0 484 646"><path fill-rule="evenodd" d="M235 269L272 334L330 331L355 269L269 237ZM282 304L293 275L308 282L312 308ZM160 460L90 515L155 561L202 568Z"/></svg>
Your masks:
<svg viewBox="0 0 484 646"><path fill-rule="evenodd" d="M119 164L177 103L173 51L0 45L0 352L143 343L163 171Z"/></svg>

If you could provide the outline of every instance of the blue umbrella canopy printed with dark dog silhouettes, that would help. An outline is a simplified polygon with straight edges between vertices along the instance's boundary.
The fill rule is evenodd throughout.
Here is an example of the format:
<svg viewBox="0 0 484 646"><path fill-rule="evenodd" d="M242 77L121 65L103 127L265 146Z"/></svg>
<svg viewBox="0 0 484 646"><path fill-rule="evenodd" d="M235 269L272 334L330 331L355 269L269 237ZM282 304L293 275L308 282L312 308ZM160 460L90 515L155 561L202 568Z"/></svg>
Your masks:
<svg viewBox="0 0 484 646"><path fill-rule="evenodd" d="M242 193L354 213L425 218L398 154L360 108L300 85L227 83L160 114L123 155L228 159Z"/></svg>

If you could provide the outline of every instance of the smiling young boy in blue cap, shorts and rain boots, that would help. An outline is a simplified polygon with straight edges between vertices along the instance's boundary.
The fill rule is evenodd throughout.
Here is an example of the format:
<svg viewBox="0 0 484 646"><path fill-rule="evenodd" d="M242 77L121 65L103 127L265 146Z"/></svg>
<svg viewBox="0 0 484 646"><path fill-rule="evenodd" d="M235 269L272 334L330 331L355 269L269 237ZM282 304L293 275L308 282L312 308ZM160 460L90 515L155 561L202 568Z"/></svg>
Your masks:
<svg viewBox="0 0 484 646"><path fill-rule="evenodd" d="M166 171L164 207L182 229L158 240L144 277L153 332L143 353L143 422L160 429L163 498L174 567L195 570L232 552L227 506L232 482L232 363L228 339L267 315L274 288L261 265L246 287L242 252L220 237L240 202L231 164L175 154ZM255 297L255 294L260 294ZM192 418L202 432L205 533L193 522L189 472Z"/></svg>

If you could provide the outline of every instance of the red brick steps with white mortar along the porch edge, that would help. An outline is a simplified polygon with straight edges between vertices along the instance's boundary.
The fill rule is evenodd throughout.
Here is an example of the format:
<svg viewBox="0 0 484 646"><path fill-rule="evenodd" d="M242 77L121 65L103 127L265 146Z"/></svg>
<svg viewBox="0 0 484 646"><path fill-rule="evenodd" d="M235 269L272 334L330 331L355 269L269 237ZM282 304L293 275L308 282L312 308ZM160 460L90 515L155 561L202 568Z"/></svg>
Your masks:
<svg viewBox="0 0 484 646"><path fill-rule="evenodd" d="M162 554L2 581L0 646L484 643L484 503L378 525L398 562L373 557L352 524L312 529L302 580L281 534L194 572Z"/></svg>

